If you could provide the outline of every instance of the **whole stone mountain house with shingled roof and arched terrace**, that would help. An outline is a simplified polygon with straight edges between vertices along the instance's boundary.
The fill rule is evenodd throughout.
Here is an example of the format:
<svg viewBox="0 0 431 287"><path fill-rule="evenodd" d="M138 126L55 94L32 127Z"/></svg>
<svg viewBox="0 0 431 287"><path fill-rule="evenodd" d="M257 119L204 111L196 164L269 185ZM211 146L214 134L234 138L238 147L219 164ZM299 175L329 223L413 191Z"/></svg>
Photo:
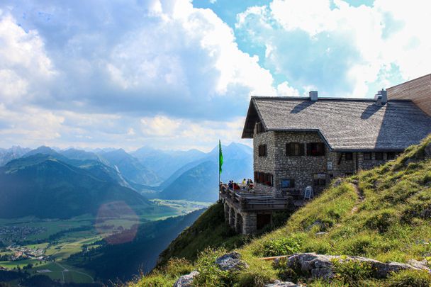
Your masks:
<svg viewBox="0 0 431 287"><path fill-rule="evenodd" d="M425 100L431 103L431 77L426 79ZM397 91L405 91L399 86ZM317 92L253 96L242 138L253 139L254 192L220 194L226 220L238 232L254 233L271 222L274 210L294 209L293 199L304 198L308 186L307 196L310 189L316 195L332 179L383 164L418 144L431 133L431 118L421 109L424 93L422 106L414 93L403 95L382 90L375 99L318 98Z"/></svg>

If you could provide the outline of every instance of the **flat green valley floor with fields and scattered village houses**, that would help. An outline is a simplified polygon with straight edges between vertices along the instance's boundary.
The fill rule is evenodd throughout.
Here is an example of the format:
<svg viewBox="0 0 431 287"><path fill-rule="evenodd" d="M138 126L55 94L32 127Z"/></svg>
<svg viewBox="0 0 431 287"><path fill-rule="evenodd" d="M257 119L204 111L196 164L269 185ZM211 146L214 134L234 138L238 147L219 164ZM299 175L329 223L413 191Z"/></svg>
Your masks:
<svg viewBox="0 0 431 287"><path fill-rule="evenodd" d="M14 260L0 260L0 266L16 271L26 269L31 275L46 275L62 282L91 283L95 279L91 271L79 269L67 261L72 254L99 247L104 237L130 230L140 223L184 215L209 205L187 201L154 202L174 209L141 215L139 212L123 215L105 213L96 217L82 215L67 220L0 219L0 242L3 243L0 243L0 258L24 254ZM32 268L27 269L28 264Z"/></svg>

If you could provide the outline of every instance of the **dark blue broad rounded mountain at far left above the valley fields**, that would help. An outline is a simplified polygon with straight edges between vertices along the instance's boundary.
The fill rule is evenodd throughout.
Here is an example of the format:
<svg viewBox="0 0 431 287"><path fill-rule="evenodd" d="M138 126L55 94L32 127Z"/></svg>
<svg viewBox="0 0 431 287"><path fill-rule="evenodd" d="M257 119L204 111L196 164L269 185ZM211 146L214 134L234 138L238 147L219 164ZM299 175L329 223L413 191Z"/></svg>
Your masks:
<svg viewBox="0 0 431 287"><path fill-rule="evenodd" d="M155 206L108 174L96 176L52 156L35 154L0 168L0 218L70 218L95 214L102 203Z"/></svg>

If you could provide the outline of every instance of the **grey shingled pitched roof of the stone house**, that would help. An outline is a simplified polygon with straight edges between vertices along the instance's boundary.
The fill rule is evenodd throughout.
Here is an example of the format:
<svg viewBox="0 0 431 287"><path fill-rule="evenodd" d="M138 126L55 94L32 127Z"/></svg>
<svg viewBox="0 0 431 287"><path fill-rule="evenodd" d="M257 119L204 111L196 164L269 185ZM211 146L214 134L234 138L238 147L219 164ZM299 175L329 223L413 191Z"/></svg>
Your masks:
<svg viewBox="0 0 431 287"><path fill-rule="evenodd" d="M259 121L265 130L316 131L337 151L401 151L431 133L431 118L409 100L254 96L242 138L252 138Z"/></svg>

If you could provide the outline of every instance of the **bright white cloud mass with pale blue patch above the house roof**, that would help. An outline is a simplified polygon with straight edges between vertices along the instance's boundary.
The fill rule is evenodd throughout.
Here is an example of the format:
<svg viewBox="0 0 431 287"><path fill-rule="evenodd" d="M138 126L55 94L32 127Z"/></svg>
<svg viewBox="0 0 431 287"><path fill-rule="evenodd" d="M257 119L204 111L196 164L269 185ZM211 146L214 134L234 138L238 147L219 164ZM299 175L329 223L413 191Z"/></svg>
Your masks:
<svg viewBox="0 0 431 287"><path fill-rule="evenodd" d="M247 9L236 25L266 47L265 67L327 96L371 96L377 86L431 72L429 1L274 0Z"/></svg>

